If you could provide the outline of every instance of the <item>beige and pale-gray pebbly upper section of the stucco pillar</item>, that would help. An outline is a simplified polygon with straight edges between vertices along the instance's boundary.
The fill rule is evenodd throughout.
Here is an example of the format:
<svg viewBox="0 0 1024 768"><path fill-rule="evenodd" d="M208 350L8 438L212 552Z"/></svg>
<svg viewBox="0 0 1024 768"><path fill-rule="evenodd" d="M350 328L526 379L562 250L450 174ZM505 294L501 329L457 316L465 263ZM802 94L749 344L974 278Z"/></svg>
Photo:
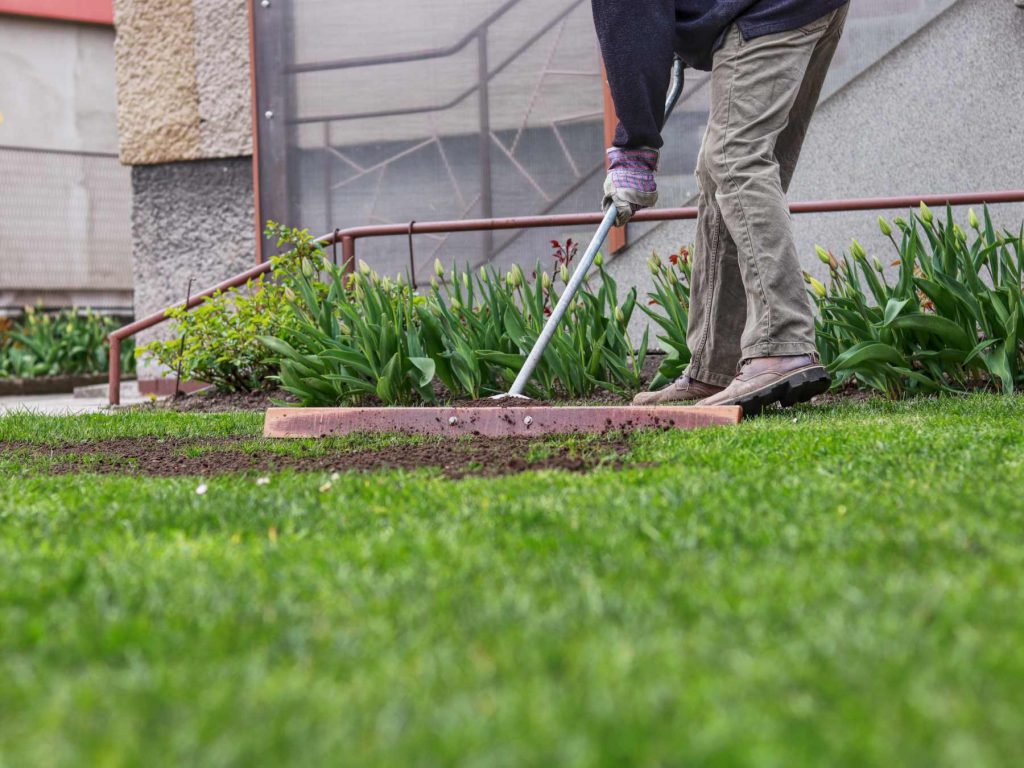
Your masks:
<svg viewBox="0 0 1024 768"><path fill-rule="evenodd" d="M246 0L116 0L129 165L252 154Z"/></svg>

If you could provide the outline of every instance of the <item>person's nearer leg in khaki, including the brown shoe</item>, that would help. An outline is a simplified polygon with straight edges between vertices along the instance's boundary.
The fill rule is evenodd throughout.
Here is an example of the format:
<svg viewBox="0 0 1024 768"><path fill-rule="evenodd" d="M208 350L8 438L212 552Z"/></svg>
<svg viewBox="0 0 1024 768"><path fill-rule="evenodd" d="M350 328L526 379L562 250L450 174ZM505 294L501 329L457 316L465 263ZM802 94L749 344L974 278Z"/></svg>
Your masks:
<svg viewBox="0 0 1024 768"><path fill-rule="evenodd" d="M716 54L705 153L738 255L746 322L742 365L703 406L809 399L828 386L797 258L785 189L842 34L847 8L805 28L743 40L733 29Z"/></svg>

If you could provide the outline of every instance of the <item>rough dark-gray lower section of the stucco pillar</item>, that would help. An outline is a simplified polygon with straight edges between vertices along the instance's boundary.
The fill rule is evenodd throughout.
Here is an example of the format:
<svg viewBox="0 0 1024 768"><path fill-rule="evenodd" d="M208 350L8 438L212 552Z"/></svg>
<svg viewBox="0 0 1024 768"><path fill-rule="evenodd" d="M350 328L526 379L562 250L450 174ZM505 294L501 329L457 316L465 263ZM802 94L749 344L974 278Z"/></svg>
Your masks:
<svg viewBox="0 0 1024 768"><path fill-rule="evenodd" d="M185 298L254 263L252 163L248 158L132 168L135 316ZM140 343L169 338L164 324ZM143 366L143 378L160 375Z"/></svg>

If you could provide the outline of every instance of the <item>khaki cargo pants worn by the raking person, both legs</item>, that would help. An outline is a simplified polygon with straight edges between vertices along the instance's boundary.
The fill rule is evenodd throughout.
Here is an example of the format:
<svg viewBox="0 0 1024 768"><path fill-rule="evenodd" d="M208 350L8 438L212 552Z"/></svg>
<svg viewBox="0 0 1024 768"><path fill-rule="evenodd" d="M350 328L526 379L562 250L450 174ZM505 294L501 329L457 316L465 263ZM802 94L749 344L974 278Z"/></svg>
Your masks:
<svg viewBox="0 0 1024 768"><path fill-rule="evenodd" d="M715 54L687 341L689 373L728 385L750 357L814 354L814 317L785 193L849 5Z"/></svg>

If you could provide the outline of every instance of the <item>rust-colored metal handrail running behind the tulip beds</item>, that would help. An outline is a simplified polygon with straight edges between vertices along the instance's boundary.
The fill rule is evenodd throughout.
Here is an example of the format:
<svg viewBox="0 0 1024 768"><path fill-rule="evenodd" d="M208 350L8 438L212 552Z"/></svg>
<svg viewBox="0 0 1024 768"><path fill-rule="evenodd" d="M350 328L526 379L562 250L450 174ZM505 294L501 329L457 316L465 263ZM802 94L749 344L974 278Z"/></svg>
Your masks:
<svg viewBox="0 0 1024 768"><path fill-rule="evenodd" d="M897 198L852 198L848 200L814 200L793 203L790 210L801 213L842 213L847 211L884 211L893 208L914 208L924 203L928 206L966 206L966 205L998 205L1001 203L1024 203L1024 189L1006 189L989 193L966 193L957 195L909 195ZM681 221L694 219L696 208L664 208L648 209L637 213L633 220L642 221ZM494 231L497 229L536 229L554 226L585 226L601 223L601 213L569 213L554 216L520 216L496 219L462 219L457 221L416 221L404 224L379 224L353 226L347 229L336 229L317 239L323 246L341 243L344 260L354 261L355 241L362 238L410 237L412 234L439 234L447 232ZM270 262L265 261L247 269L241 274L218 283L212 288L196 294L185 304L186 309L193 309L203 303L218 291L244 286L249 281L266 274L271 270ZM163 311L142 317L124 328L119 328L109 337L110 372L108 396L110 404L121 402L121 342L139 331L145 331L168 319L167 313L180 307L180 304L168 307Z"/></svg>

